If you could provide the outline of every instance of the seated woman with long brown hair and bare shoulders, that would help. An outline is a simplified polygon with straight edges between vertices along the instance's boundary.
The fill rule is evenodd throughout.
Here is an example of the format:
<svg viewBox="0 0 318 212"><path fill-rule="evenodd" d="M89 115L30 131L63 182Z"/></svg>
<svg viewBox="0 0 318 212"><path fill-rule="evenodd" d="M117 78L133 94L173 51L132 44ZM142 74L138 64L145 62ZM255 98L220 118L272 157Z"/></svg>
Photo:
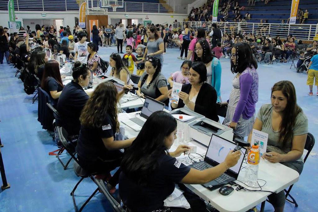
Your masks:
<svg viewBox="0 0 318 212"><path fill-rule="evenodd" d="M130 72L124 65L120 54L112 53L109 57L109 65L112 67L111 76L114 76L125 83L125 85L134 85L130 79Z"/></svg>

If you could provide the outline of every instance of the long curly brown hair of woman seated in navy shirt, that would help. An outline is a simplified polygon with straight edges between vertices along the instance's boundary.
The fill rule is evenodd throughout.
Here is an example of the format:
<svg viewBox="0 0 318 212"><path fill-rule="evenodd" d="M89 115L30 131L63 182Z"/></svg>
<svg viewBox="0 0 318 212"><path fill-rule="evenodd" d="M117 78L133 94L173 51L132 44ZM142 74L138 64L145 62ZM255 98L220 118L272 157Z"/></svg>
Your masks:
<svg viewBox="0 0 318 212"><path fill-rule="evenodd" d="M100 83L94 90L90 99L84 106L79 121L86 127L100 127L106 114L115 124L116 132L119 132L117 119L117 89L112 82Z"/></svg>

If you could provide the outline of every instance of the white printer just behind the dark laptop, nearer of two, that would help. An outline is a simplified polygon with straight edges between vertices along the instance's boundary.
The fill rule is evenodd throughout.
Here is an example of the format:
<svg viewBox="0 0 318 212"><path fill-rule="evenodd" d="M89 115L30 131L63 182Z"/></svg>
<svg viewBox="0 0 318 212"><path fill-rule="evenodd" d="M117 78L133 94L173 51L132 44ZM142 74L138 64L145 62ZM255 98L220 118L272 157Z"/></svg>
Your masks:
<svg viewBox="0 0 318 212"><path fill-rule="evenodd" d="M209 146L212 134L226 140L233 140L233 129L208 118L201 118L189 123L190 137L197 142Z"/></svg>

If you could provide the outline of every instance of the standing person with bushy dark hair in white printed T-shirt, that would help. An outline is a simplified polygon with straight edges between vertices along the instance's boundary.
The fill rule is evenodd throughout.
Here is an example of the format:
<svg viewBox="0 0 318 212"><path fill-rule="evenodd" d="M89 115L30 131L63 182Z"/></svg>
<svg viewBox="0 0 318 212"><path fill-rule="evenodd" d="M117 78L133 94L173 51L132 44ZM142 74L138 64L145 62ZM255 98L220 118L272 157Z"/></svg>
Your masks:
<svg viewBox="0 0 318 212"><path fill-rule="evenodd" d="M79 32L77 34L77 38L79 39L79 42L77 42L74 45L74 51L75 51L75 57L74 61L80 61L82 63L87 63L87 34L85 32Z"/></svg>

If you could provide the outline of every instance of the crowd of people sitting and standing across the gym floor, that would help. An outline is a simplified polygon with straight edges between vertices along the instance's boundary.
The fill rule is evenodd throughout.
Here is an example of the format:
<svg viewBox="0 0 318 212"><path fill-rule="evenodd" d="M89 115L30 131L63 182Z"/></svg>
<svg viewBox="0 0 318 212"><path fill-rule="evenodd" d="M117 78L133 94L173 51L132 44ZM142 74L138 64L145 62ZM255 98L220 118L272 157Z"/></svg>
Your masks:
<svg viewBox="0 0 318 212"><path fill-rule="evenodd" d="M37 40L36 48L30 48L29 34L25 38L12 35L14 42L10 44L11 38L8 38L4 29L0 29L0 40L3 42L5 38L8 47L10 44L10 53L21 58L29 71L41 80L41 88L49 94L60 113L57 125L64 127L69 135L78 136L76 152L81 166L90 173L99 173L99 177L107 181L111 193L115 192L115 186L119 184L120 197L131 211L153 211L163 208L163 201L172 193L175 183L202 184L211 181L234 166L240 152L230 152L223 163L204 171L183 164L176 167L175 157L189 147L180 145L174 152L169 152L177 129L176 120L165 112L153 113L136 138L116 140L116 134L120 133L117 102L126 90L132 91L130 76L134 73L134 66L137 66L137 74L141 76L136 91L139 97L148 96L168 106L171 86L174 82L182 83L180 100L171 103L171 109L185 107L219 121L219 108L227 106L223 124L231 127L235 135L249 136L248 141L251 142L252 129L268 133L267 148L273 156L265 157L266 160L282 163L299 174L303 168L302 153L308 133L308 120L297 105L294 85L286 80L275 83L268 99L271 104L263 105L258 112L255 109L259 88L257 58L260 61L264 58L271 60L277 55L284 61L284 57L288 58L295 49L294 38L287 38L284 45L280 38L223 34L217 24L211 27L211 32L204 28L193 31L185 24L180 33L172 31L167 24L140 24L130 28L128 26L125 30L119 23L115 30L108 25L103 30L93 27L92 33L96 36L93 42L87 42L86 32L74 27L78 42L71 45L74 41L68 30L61 28L61 39L58 42L57 37L54 37L57 35L56 30L50 27L42 40L43 31L37 25L33 37ZM126 54L121 56L125 40ZM118 53L112 53L109 57L110 74L124 82L124 90L118 93L113 83L103 82L93 92L86 92L83 87L90 81L90 70L96 75L102 74L98 45L112 45L112 42L117 43ZM180 59L184 61L180 62L180 71L166 79L161 70L168 42L181 48ZM75 60L72 82L63 85L64 75L60 74L59 62L48 60L43 52L45 45L56 53L67 54L70 51L69 57ZM316 46L317 42L308 46L307 51L317 53ZM134 50L136 56L132 54ZM2 49L1 52L4 55ZM230 58L234 75L230 96L222 95L221 91L222 67L219 58L222 52ZM311 69L308 70L307 83L311 85L311 95L313 79L317 80L317 57L313 56L309 65ZM317 81L315 83L318 85ZM126 149L124 153L119 151L122 148ZM120 168L110 176L110 171L117 167ZM136 193L136 189L140 192ZM184 192L191 194L185 195L191 208L205 211L204 201L186 189ZM269 201L275 211L283 211L284 191L269 195ZM183 211L180 208L170 209Z"/></svg>

